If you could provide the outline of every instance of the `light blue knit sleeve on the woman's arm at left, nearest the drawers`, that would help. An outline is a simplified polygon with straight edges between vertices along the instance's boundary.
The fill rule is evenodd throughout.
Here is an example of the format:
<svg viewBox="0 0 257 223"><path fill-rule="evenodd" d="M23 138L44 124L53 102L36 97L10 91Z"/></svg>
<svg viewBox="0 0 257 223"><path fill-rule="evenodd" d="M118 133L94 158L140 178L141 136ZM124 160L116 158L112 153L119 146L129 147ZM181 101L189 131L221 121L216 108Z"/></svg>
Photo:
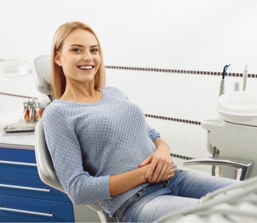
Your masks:
<svg viewBox="0 0 257 223"><path fill-rule="evenodd" d="M42 124L57 177L74 204L110 199L109 176L90 176L73 125L54 106L44 111Z"/></svg>

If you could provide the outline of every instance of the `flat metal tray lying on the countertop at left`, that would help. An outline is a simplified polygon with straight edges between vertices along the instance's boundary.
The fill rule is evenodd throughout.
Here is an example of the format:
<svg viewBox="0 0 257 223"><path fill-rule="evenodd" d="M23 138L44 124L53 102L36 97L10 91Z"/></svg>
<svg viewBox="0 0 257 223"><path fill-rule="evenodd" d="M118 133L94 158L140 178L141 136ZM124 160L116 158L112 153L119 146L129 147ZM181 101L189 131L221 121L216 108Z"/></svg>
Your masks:
<svg viewBox="0 0 257 223"><path fill-rule="evenodd" d="M34 131L37 122L26 122L25 120L20 120L13 124L8 124L3 127L4 132L27 132Z"/></svg>

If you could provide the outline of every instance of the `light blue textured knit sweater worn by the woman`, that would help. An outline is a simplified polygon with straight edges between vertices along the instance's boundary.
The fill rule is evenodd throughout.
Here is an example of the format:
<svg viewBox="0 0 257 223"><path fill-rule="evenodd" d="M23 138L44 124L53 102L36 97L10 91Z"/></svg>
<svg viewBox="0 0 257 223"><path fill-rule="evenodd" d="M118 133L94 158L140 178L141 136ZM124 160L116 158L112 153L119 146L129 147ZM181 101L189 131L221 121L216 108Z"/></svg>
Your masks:
<svg viewBox="0 0 257 223"><path fill-rule="evenodd" d="M147 183L111 198L109 176L138 168L160 136L122 91L108 87L102 92L94 103L55 99L42 122L57 177L72 202L99 202L113 216Z"/></svg>

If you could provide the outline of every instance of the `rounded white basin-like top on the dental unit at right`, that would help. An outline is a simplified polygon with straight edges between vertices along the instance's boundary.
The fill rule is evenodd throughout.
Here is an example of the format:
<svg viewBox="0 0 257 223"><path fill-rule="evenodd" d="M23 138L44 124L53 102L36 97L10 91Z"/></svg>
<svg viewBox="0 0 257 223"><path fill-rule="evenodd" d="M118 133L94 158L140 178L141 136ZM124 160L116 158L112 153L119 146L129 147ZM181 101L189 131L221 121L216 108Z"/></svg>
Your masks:
<svg viewBox="0 0 257 223"><path fill-rule="evenodd" d="M257 126L257 92L234 91L219 97L216 111L228 122Z"/></svg>

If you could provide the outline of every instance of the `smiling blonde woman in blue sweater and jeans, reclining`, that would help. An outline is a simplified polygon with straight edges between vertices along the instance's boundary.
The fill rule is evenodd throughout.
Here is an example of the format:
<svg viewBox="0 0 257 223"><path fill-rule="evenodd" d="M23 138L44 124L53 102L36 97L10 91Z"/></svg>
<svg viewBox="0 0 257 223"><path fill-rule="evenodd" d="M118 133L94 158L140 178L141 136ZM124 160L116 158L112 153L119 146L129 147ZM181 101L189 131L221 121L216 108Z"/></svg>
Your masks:
<svg viewBox="0 0 257 223"><path fill-rule="evenodd" d="M105 88L100 43L61 25L52 48L55 100L43 127L57 177L75 204L99 202L117 222L153 222L233 180L175 169L169 146L122 91Z"/></svg>

